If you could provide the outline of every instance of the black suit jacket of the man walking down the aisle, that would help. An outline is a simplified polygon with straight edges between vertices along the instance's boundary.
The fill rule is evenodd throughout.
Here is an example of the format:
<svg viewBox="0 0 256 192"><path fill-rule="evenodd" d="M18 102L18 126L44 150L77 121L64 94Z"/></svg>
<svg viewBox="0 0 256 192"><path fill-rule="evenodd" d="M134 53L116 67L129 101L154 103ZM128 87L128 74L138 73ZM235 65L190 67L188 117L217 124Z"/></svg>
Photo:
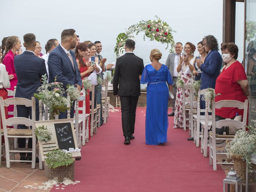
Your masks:
<svg viewBox="0 0 256 192"><path fill-rule="evenodd" d="M144 64L134 53L117 58L113 79L113 92L118 96L140 96L140 79ZM119 88L118 88L119 84Z"/></svg>

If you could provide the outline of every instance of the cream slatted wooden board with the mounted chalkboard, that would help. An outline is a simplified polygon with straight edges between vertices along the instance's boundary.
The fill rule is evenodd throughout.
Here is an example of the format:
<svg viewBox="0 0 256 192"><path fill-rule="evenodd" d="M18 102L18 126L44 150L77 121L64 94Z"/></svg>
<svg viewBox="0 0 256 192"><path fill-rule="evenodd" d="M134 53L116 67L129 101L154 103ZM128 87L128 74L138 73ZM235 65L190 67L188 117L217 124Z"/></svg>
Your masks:
<svg viewBox="0 0 256 192"><path fill-rule="evenodd" d="M48 130L52 132L52 139L50 141L38 141L42 161L45 160L46 154L51 150L78 148L73 119L35 121L35 125L36 127L47 126ZM72 152L72 156L80 157L81 153Z"/></svg>

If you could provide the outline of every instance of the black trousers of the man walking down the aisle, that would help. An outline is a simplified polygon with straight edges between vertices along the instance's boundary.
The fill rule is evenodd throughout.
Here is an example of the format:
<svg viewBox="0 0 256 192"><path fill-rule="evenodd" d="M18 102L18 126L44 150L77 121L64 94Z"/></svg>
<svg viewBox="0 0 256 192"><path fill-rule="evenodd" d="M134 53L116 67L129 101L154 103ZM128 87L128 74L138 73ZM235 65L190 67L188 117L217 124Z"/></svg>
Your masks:
<svg viewBox="0 0 256 192"><path fill-rule="evenodd" d="M134 134L134 124L138 99L139 96L120 96L124 137L128 137Z"/></svg>

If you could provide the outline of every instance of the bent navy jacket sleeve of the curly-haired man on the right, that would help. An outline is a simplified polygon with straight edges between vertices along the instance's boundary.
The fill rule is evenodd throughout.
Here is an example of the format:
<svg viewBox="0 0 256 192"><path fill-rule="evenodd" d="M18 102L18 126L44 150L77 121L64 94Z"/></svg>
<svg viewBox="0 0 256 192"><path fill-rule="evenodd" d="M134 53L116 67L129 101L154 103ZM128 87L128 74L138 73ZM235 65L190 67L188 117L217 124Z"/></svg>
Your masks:
<svg viewBox="0 0 256 192"><path fill-rule="evenodd" d="M216 73L216 69L218 67L218 56L216 54L212 54L211 56L208 57L208 62L207 63L204 62L200 66L200 69L203 72L209 74L210 76L214 76L215 73Z"/></svg>

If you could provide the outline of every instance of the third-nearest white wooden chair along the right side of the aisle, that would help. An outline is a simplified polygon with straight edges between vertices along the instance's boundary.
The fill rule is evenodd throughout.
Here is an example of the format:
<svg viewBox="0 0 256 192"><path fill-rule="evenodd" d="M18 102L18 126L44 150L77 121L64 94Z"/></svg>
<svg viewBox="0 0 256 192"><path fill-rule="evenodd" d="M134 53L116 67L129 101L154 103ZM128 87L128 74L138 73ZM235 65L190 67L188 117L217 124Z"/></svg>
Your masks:
<svg viewBox="0 0 256 192"><path fill-rule="evenodd" d="M200 100L201 95L204 95L207 89L198 90L198 97L197 97L197 112L196 115L193 115L193 121L194 121L194 143L196 144L196 147L199 147L200 144L200 138L202 137L202 134L200 132L200 122L204 122L205 116L200 115L200 113L205 113L205 109L200 109ZM211 119L211 116L208 116L208 118Z"/></svg>

